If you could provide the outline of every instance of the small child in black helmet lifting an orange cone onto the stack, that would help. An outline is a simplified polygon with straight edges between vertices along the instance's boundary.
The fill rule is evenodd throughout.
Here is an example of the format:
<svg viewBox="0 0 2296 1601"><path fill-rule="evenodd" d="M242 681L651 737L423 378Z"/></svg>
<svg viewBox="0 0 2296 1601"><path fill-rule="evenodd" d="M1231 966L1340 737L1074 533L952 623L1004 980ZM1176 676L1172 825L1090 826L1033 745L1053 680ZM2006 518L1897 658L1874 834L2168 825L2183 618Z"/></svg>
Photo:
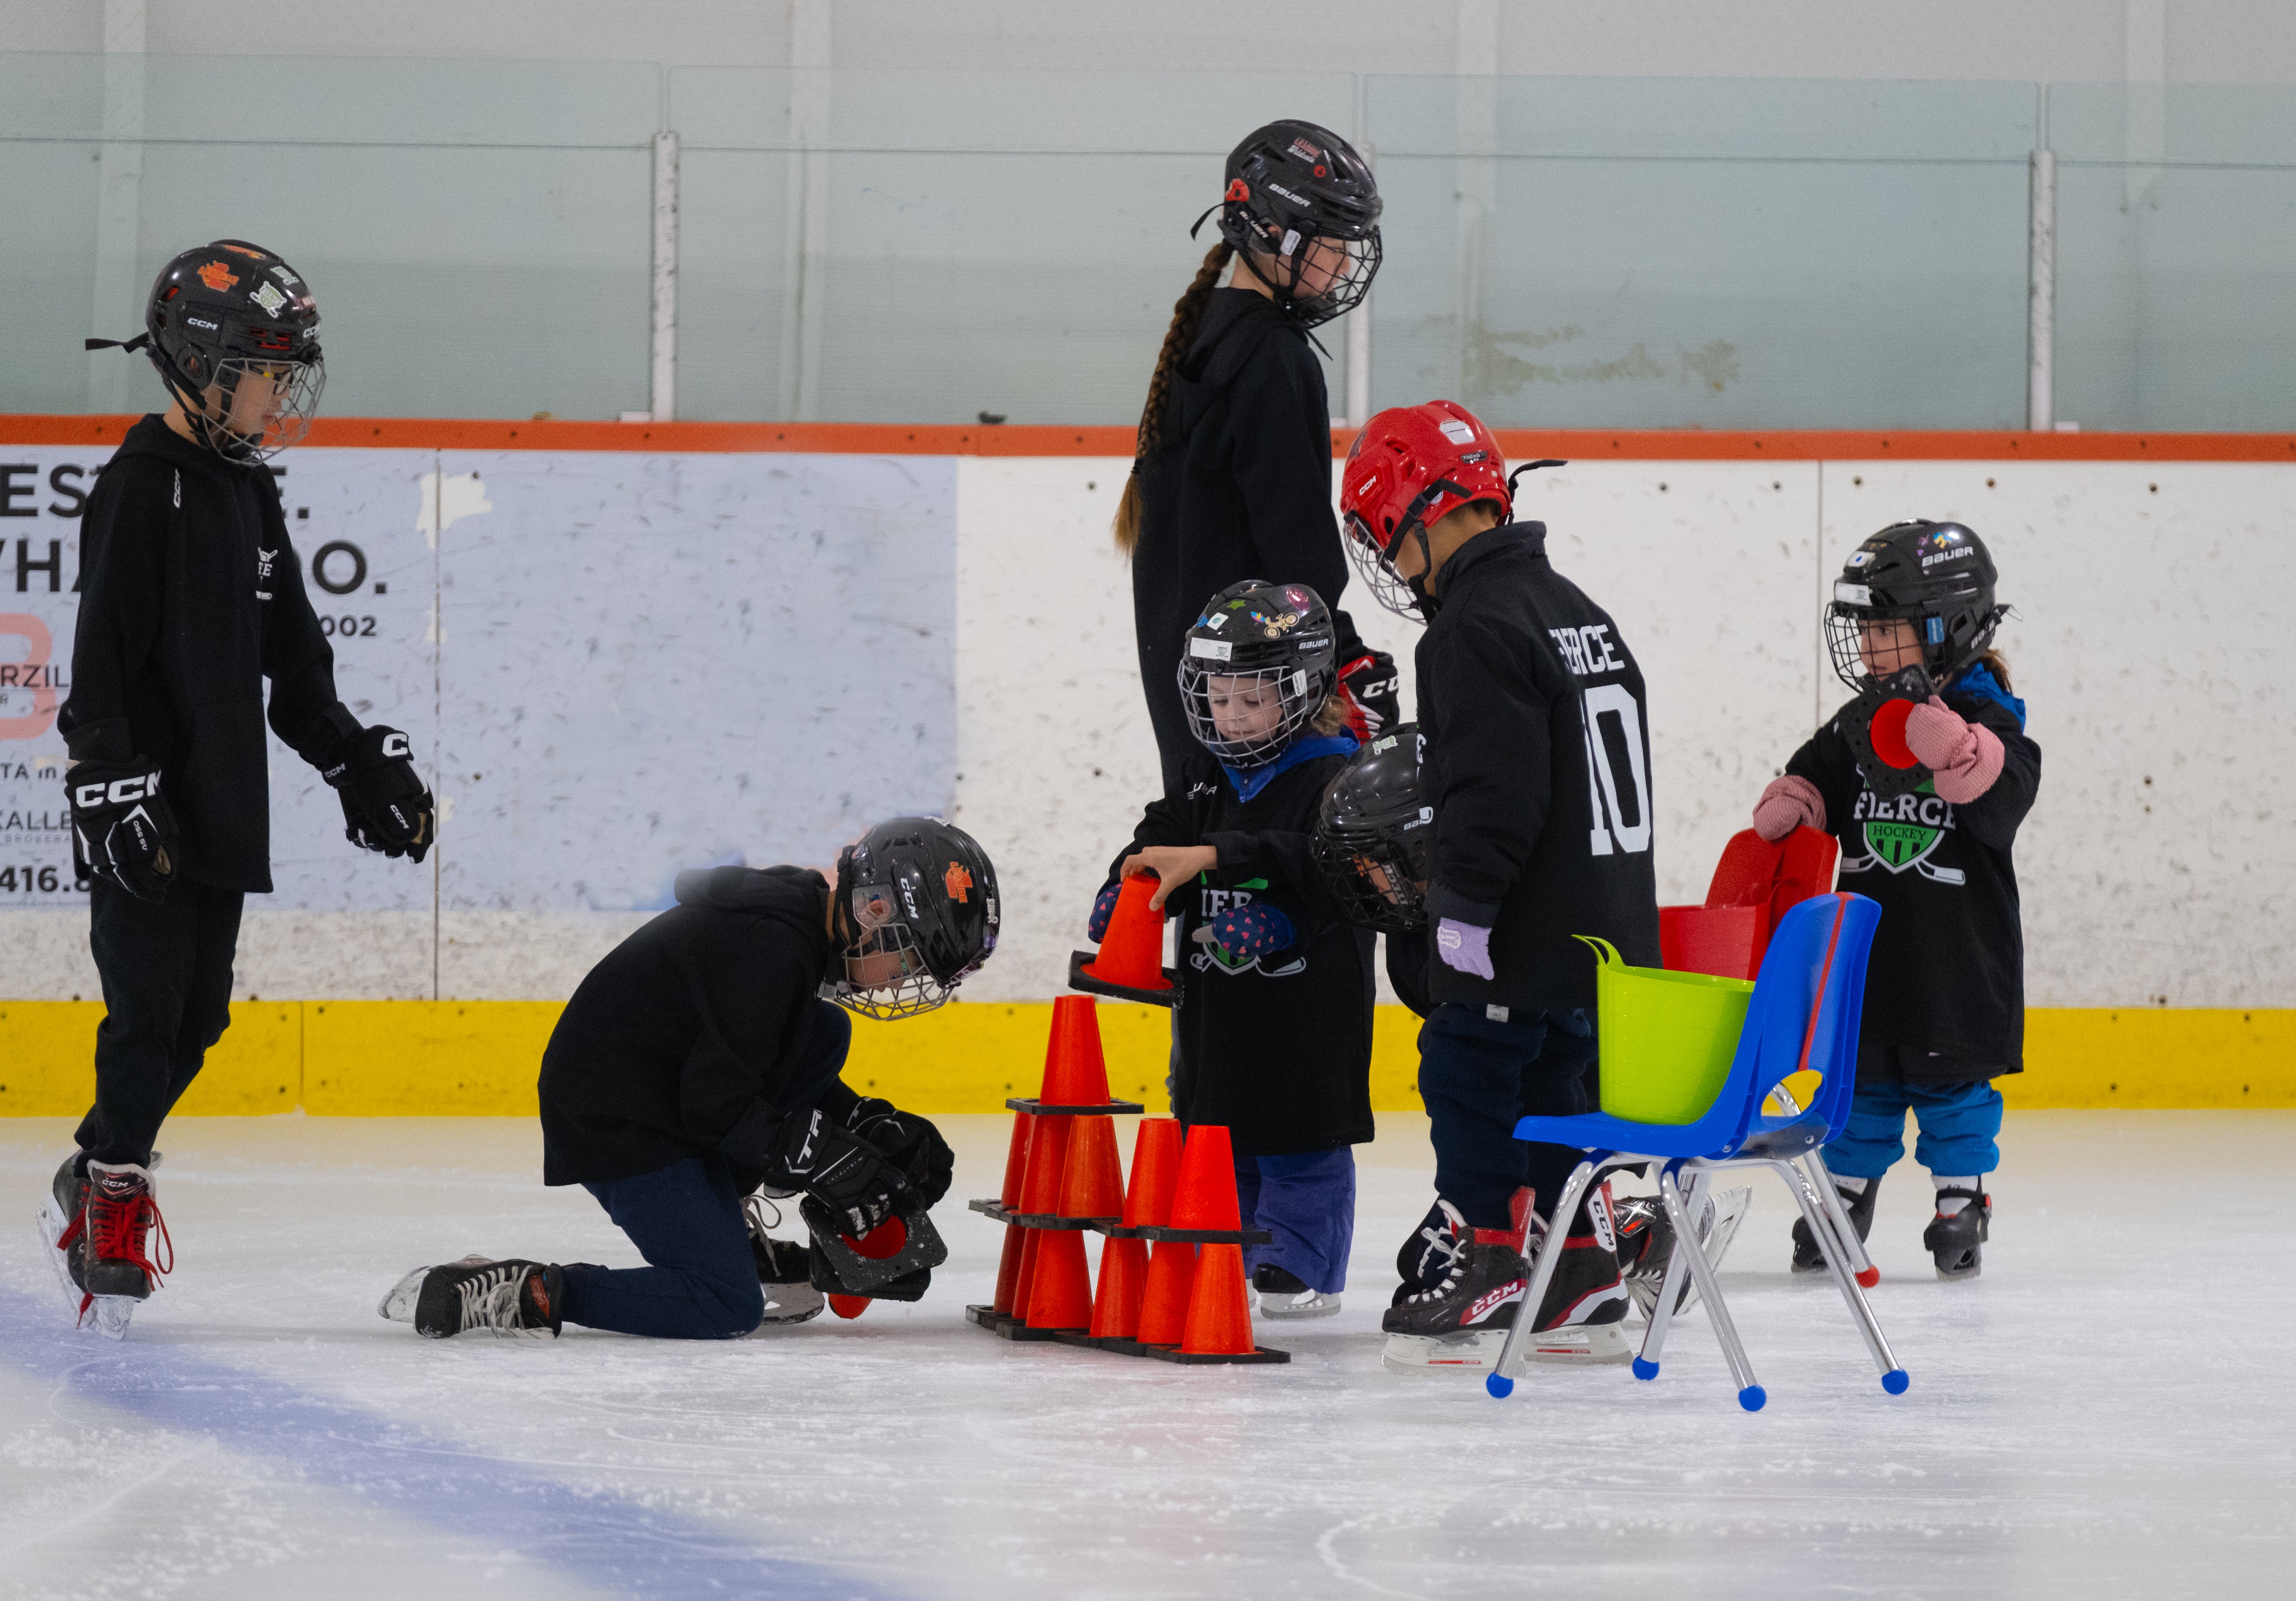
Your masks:
<svg viewBox="0 0 2296 1601"><path fill-rule="evenodd" d="M1088 935L1123 880L1159 880L1180 919L1173 1116L1235 1146L1261 1312L1339 1312L1355 1240L1355 1151L1371 1121L1371 935L1309 912L1325 783L1355 756L1336 694L1334 625L1304 583L1247 579L1187 632L1180 698L1203 747L1109 868ZM1196 880L1189 887L1189 880Z"/></svg>

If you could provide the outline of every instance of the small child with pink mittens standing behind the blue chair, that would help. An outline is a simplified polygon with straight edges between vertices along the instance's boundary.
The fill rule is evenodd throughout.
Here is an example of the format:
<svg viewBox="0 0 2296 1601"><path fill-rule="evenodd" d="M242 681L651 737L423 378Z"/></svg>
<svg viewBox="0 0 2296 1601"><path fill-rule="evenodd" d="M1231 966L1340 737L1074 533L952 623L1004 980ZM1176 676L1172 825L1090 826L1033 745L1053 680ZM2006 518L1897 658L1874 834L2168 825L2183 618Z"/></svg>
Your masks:
<svg viewBox="0 0 2296 1601"><path fill-rule="evenodd" d="M2025 737L2025 703L1991 648L2009 611L1993 602L1993 556L1961 524L1901 521L1860 544L1825 616L1835 671L1860 698L1754 804L1763 838L1795 827L1839 838L1841 887L1883 907L1857 1098L1825 1165L1864 1238L1913 1112L1913 1153L1938 1190L1922 1245L1940 1279L1984 1266L1984 1178L2000 1165L2002 1126L1993 1080L2025 1066L2025 933L2009 852L2041 783L2041 747ZM1878 680L1913 666L1933 689L1906 714L1896 749L1887 719L1874 717ZM1908 753L1915 767L1899 765ZM1823 1266L1809 1224L1793 1224L1793 1270Z"/></svg>

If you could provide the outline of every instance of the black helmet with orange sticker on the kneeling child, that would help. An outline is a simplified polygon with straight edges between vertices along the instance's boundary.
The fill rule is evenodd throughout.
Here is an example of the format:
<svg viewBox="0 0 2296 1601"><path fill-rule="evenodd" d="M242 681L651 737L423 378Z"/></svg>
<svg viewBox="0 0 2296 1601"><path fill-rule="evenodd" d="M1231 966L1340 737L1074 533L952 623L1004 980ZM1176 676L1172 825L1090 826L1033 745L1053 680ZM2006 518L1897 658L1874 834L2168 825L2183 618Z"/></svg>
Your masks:
<svg viewBox="0 0 2296 1601"><path fill-rule="evenodd" d="M829 999L863 1018L941 1006L996 949L996 868L939 818L879 822L838 857L847 944Z"/></svg>

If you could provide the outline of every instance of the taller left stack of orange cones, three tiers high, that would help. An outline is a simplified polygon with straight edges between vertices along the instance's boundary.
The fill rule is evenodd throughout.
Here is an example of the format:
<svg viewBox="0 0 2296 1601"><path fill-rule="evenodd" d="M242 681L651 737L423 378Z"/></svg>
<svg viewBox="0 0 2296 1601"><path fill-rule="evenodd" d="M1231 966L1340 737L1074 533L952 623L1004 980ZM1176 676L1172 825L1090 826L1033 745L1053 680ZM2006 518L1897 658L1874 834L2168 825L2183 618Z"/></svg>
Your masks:
<svg viewBox="0 0 2296 1601"><path fill-rule="evenodd" d="M1084 1231L1123 1215L1123 1171L1111 1116L1141 1112L1109 1098L1100 1020L1086 995L1052 1008L1042 1091L1013 1107L1006 1181L971 1208L1006 1224L996 1298L964 1316L1006 1339L1088 1339L1093 1277Z"/></svg>

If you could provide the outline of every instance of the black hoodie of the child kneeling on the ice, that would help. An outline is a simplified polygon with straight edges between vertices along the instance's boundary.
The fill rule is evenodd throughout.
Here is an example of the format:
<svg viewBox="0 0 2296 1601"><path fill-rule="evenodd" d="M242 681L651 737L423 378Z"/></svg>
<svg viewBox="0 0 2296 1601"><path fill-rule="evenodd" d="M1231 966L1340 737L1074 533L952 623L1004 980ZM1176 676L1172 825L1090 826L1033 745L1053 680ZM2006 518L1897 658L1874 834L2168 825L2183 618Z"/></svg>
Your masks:
<svg viewBox="0 0 2296 1601"><path fill-rule="evenodd" d="M744 1190L790 1112L843 1116L852 1024L820 999L813 868L677 875L677 900L574 990L542 1050L542 1183L611 1183L723 1153Z"/></svg>

